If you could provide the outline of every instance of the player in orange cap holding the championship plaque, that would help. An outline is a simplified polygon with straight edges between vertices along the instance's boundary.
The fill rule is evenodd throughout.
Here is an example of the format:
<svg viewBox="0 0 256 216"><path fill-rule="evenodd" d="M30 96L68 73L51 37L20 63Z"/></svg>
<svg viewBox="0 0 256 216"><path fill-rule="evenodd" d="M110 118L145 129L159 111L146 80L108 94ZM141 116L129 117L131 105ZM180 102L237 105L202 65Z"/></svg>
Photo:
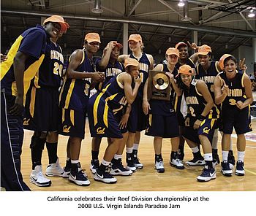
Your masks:
<svg viewBox="0 0 256 216"><path fill-rule="evenodd" d="M178 74L175 65L178 62L178 50L170 47L166 50L167 64L159 63L153 70L157 72L165 72L170 78L170 101L162 101L151 99L148 101L148 83L146 81L143 96L143 111L148 115L148 127L146 135L154 136L154 152L155 152L155 169L157 172L164 172L164 164L162 159L162 139L170 138L171 154L170 165L177 169L184 169L183 164L178 158L179 130L178 118L174 109L176 96L181 95L181 90L176 84L174 77Z"/></svg>

